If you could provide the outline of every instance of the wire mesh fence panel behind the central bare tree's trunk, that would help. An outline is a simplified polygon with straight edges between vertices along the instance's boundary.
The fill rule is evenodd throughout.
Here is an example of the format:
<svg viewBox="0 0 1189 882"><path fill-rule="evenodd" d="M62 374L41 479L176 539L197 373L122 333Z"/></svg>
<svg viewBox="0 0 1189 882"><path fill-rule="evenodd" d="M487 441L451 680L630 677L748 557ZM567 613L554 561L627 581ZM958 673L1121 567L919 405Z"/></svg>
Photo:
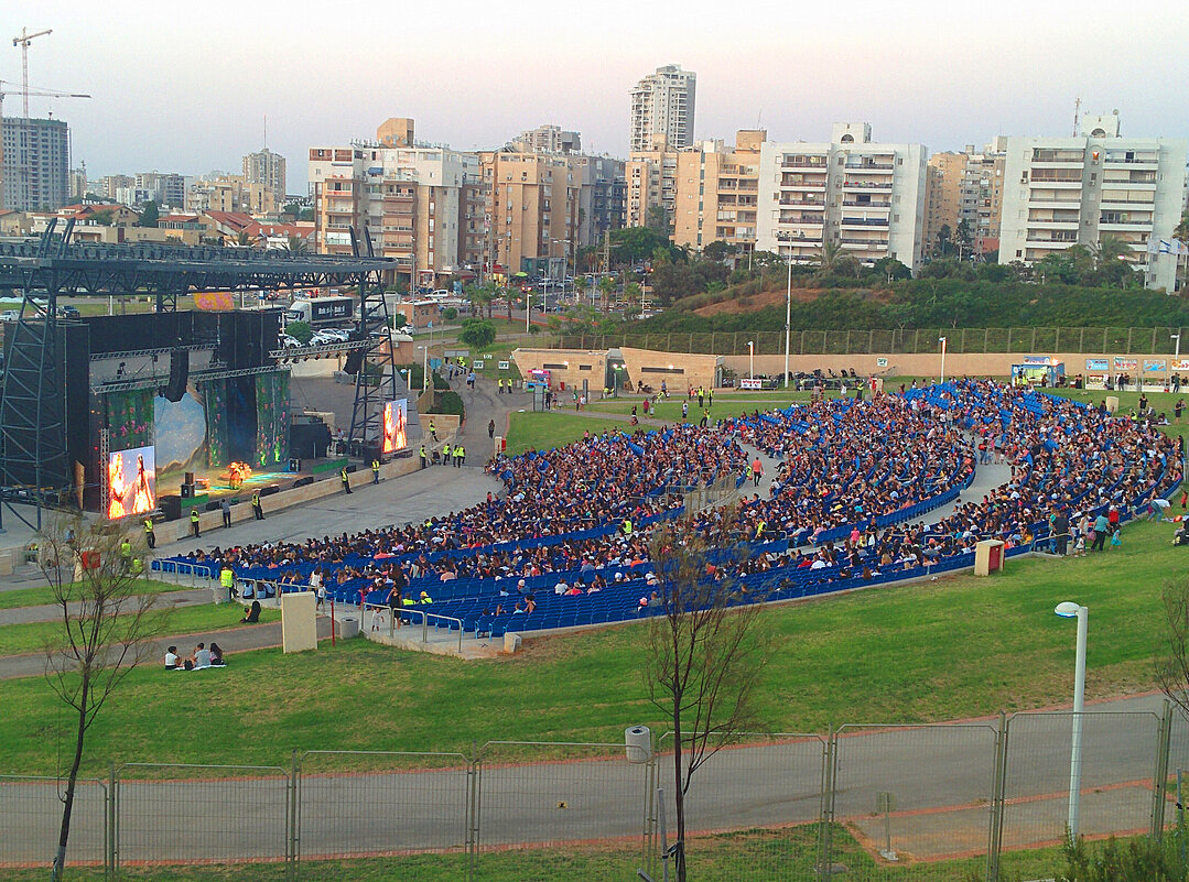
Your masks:
<svg viewBox="0 0 1189 882"><path fill-rule="evenodd" d="M713 861L729 848L748 855L735 878L813 878L822 853L828 743L818 735L748 733L710 756L694 773L685 799L687 863ZM673 746L672 733L666 733L655 755L668 844L678 833ZM655 855L656 832L653 839Z"/></svg>

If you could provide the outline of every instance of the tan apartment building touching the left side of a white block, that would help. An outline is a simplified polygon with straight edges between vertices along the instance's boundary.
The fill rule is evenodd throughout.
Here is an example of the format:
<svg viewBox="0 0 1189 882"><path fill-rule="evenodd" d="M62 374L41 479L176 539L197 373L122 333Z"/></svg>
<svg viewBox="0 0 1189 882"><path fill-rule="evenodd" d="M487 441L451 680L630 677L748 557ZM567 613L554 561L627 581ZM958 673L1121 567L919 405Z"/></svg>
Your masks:
<svg viewBox="0 0 1189 882"><path fill-rule="evenodd" d="M750 248L760 202L760 147L767 133L743 130L735 146L702 141L677 155L673 241L702 251L712 241Z"/></svg>

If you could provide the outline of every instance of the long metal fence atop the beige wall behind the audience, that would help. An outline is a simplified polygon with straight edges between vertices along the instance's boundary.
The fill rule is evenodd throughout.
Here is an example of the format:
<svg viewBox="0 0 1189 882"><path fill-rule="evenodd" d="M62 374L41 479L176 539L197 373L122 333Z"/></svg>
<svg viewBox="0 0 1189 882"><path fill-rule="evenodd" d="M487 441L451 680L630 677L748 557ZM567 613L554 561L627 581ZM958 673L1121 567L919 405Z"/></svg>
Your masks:
<svg viewBox="0 0 1189 882"><path fill-rule="evenodd" d="M937 339L946 339L951 354L1009 352L1088 353L1115 355L1172 355L1171 336L1189 328L894 328L879 330L793 330L794 355L887 355L936 353ZM1181 338L1185 339L1184 336ZM784 330L719 330L713 333L659 332L653 334L586 334L554 338L555 349L630 347L662 352L747 355L748 342L756 355L785 353Z"/></svg>

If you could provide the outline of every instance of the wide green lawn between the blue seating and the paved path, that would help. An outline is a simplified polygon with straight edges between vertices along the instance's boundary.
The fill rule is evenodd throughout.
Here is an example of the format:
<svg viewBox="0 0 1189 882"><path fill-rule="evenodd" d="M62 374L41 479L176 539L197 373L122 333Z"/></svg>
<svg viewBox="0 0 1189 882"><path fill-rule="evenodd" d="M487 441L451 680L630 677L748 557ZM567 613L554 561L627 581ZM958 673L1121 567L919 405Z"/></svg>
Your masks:
<svg viewBox="0 0 1189 882"><path fill-rule="evenodd" d="M1163 581L1184 572L1168 524L1135 524L1121 548L1080 560L1012 560L989 579L945 578L770 607L759 719L822 732L842 723L925 723L1068 703L1070 625L1089 606L1088 698L1150 689ZM90 733L107 760L283 763L290 748L460 750L490 739L619 743L658 723L644 679L648 629L625 624L531 640L515 657L461 661L363 640L314 653L244 653L218 678L133 672ZM0 770L54 774L69 737L42 678L0 681ZM201 708L201 710L200 710ZM203 731L218 738L194 737ZM345 767L366 758L344 758Z"/></svg>

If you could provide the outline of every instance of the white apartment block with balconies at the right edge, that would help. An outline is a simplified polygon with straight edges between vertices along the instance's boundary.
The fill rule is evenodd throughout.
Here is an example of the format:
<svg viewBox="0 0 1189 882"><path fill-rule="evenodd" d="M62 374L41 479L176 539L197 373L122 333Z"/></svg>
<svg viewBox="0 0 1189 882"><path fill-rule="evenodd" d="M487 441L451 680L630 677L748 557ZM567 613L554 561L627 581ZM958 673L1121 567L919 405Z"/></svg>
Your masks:
<svg viewBox="0 0 1189 882"><path fill-rule="evenodd" d="M1172 291L1176 257L1159 251L1181 220L1189 141L1124 138L1119 118L1083 120L1076 138L1008 138L999 260L1031 265L1113 235L1146 288Z"/></svg>

